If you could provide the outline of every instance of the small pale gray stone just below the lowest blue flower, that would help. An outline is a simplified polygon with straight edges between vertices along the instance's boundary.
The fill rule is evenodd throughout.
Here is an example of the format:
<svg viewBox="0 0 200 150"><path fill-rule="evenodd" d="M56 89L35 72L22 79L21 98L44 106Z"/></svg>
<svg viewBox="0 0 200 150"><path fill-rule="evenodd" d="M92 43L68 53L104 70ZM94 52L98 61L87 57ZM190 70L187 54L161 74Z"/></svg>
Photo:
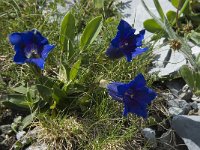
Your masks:
<svg viewBox="0 0 200 150"><path fill-rule="evenodd" d="M148 140L152 146L156 146L156 133L153 129L151 128L144 128L142 130L142 135Z"/></svg>

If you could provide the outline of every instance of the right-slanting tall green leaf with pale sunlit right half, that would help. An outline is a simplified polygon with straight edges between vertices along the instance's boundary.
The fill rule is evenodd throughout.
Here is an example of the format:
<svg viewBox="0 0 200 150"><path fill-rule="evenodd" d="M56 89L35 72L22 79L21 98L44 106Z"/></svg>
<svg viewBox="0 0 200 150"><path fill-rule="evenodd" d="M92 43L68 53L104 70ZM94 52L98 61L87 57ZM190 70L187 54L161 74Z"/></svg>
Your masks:
<svg viewBox="0 0 200 150"><path fill-rule="evenodd" d="M98 16L92 19L85 27L83 34L81 36L81 49L85 49L91 44L100 33L103 26L102 17Z"/></svg>

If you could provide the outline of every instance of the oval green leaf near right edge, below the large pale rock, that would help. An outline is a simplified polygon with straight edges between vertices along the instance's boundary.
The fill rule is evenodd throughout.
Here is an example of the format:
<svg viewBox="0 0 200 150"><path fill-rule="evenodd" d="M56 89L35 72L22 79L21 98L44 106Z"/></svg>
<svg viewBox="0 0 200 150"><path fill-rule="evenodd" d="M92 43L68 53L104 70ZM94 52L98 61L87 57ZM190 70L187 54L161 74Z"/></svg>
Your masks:
<svg viewBox="0 0 200 150"><path fill-rule="evenodd" d="M180 69L180 75L183 77L189 87L194 89L195 79L192 69L190 69L187 65L183 65Z"/></svg>

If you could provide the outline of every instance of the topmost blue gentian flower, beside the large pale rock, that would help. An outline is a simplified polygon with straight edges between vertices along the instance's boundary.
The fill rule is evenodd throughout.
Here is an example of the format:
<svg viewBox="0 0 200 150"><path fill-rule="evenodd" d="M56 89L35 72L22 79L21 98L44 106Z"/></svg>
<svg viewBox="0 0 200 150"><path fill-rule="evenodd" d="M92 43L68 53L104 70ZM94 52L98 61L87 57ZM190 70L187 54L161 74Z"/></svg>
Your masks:
<svg viewBox="0 0 200 150"><path fill-rule="evenodd" d="M124 20L120 21L117 29L117 35L106 51L110 59L126 56L127 61L130 62L134 57L148 50L148 48L141 48L145 30L135 35L135 29Z"/></svg>

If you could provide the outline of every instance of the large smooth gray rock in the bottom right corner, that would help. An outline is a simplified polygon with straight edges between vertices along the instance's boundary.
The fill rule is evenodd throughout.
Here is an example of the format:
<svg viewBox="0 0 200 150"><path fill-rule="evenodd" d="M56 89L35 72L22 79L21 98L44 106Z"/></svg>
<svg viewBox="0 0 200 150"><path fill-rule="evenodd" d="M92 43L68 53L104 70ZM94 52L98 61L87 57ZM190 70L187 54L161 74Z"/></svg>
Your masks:
<svg viewBox="0 0 200 150"><path fill-rule="evenodd" d="M200 116L178 115L171 125L189 150L200 150Z"/></svg>

